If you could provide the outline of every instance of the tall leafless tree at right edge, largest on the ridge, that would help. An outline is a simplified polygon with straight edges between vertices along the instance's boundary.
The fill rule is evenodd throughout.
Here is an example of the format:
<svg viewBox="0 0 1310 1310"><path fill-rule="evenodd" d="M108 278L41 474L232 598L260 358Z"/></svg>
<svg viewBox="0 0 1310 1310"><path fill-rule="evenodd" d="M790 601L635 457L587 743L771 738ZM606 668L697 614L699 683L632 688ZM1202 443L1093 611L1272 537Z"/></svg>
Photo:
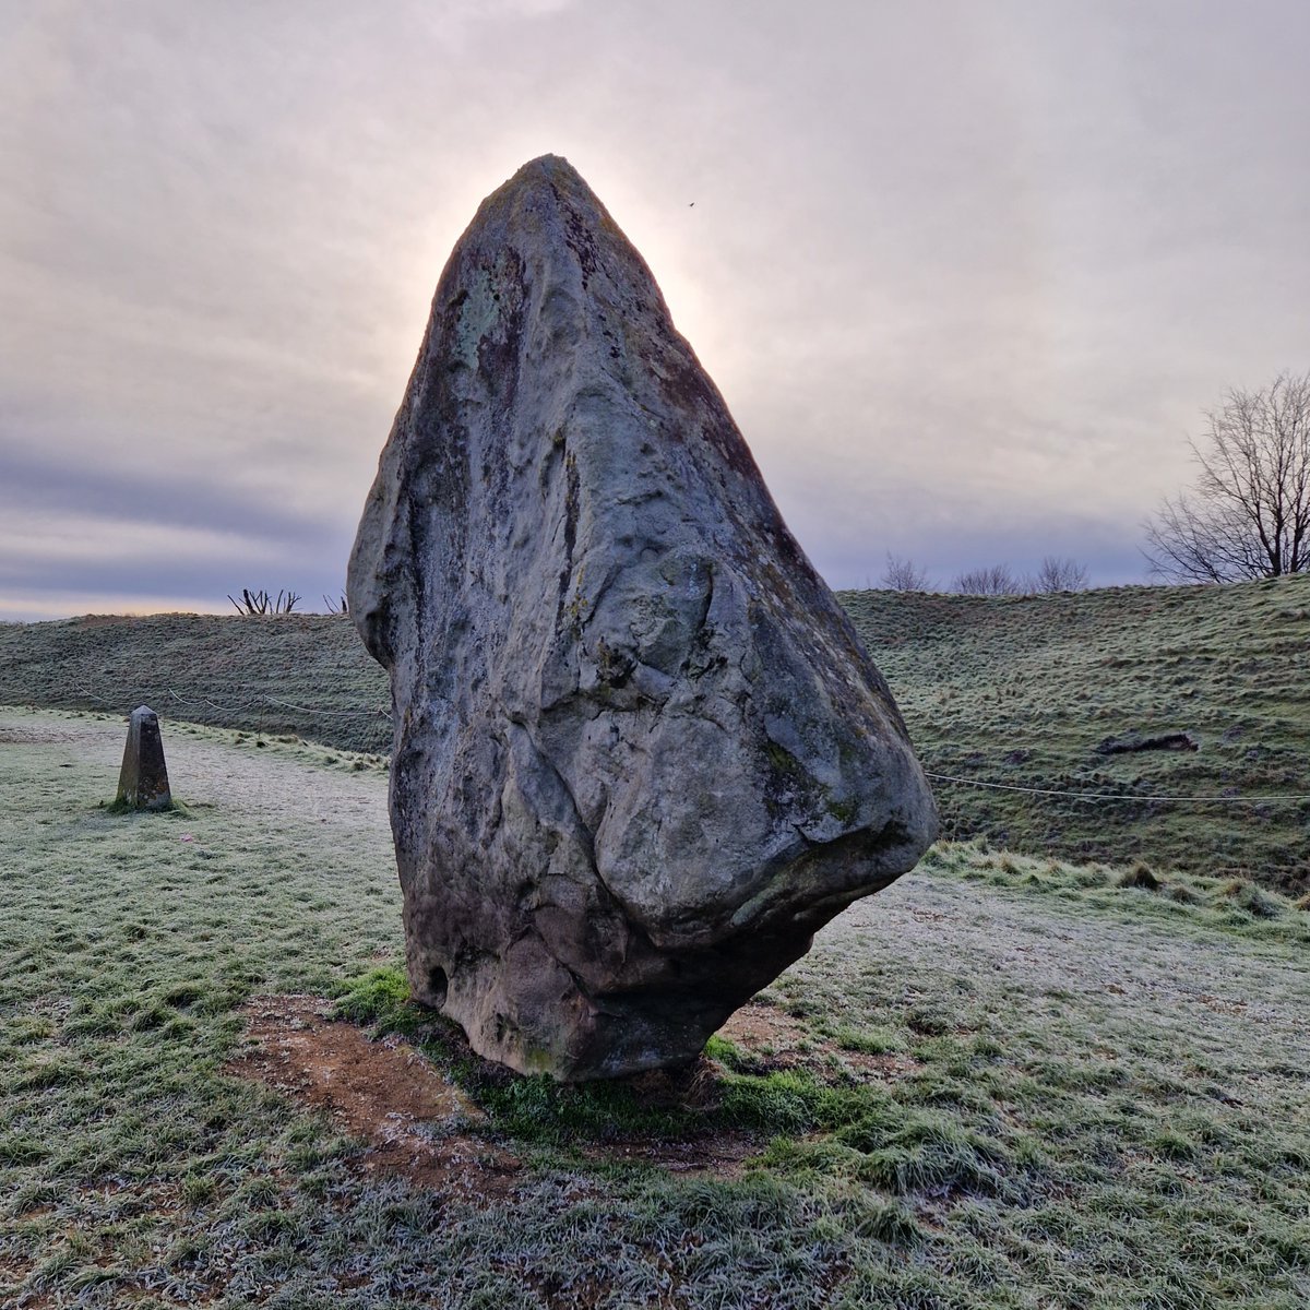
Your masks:
<svg viewBox="0 0 1310 1310"><path fill-rule="evenodd" d="M1310 570L1310 373L1230 390L1207 414L1191 493L1146 525L1151 571L1179 582L1237 582Z"/></svg>

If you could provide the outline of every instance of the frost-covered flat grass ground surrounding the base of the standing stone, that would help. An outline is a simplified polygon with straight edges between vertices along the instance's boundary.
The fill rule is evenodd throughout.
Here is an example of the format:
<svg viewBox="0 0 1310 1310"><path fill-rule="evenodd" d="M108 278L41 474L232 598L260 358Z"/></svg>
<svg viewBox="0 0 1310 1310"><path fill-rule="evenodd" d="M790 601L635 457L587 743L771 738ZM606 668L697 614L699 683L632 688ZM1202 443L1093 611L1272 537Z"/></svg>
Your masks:
<svg viewBox="0 0 1310 1310"><path fill-rule="evenodd" d="M947 844L686 1077L558 1089L405 1003L375 757L173 724L113 816L123 731L0 710L0 1305L1310 1302L1289 897ZM250 1077L282 1011L456 1108Z"/></svg>

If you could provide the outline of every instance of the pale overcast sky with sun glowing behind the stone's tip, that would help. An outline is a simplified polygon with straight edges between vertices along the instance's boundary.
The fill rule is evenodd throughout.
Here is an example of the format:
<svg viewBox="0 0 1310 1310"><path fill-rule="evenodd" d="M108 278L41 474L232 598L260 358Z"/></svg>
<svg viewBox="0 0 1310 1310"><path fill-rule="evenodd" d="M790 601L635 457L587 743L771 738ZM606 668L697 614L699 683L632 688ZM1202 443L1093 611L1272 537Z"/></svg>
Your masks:
<svg viewBox="0 0 1310 1310"><path fill-rule="evenodd" d="M1310 367L1307 48L1305 0L0 0L0 618L339 595L546 152L832 586L1141 580L1203 411Z"/></svg>

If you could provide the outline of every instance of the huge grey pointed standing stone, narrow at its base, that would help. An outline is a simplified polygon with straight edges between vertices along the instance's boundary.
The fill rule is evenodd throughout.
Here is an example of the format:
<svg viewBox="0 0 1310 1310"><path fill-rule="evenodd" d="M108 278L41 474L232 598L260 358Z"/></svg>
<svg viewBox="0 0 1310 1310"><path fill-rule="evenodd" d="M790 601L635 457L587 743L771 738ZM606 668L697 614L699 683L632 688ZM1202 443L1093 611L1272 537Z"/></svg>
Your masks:
<svg viewBox="0 0 1310 1310"><path fill-rule="evenodd" d="M516 1069L689 1060L933 840L887 684L562 159L451 255L348 597L414 993Z"/></svg>

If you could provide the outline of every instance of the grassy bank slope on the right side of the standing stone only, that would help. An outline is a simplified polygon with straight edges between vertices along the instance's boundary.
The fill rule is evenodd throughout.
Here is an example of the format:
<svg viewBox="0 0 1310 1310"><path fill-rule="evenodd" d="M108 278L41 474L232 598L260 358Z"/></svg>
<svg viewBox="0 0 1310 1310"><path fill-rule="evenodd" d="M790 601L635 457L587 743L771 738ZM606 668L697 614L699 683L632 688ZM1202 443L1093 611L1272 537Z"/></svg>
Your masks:
<svg viewBox="0 0 1310 1310"><path fill-rule="evenodd" d="M1090 803L934 779L947 836L1289 887L1310 879L1310 802L1151 799L1310 794L1310 576L841 600L926 769L1129 798ZM1183 748L1133 749L1151 739Z"/></svg>

